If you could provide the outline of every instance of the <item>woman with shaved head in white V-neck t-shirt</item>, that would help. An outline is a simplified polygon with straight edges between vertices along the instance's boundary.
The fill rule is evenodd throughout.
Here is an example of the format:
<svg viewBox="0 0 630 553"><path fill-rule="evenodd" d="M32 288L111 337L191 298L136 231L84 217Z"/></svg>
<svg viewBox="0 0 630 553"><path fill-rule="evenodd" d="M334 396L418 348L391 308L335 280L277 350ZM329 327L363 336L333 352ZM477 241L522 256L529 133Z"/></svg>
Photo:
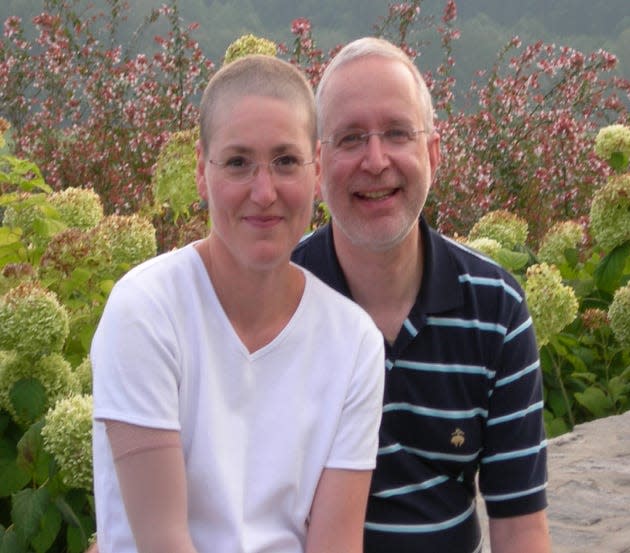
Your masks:
<svg viewBox="0 0 630 553"><path fill-rule="evenodd" d="M130 271L92 344L101 553L360 553L383 386L371 319L290 263L311 88L241 58L201 103L209 236Z"/></svg>

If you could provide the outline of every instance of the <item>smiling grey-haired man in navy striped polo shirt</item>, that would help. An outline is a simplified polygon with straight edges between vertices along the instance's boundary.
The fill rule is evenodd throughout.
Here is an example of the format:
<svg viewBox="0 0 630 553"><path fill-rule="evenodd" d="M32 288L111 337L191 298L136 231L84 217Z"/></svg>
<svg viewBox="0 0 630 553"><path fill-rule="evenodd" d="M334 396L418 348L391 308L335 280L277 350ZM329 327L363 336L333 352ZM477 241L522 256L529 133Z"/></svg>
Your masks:
<svg viewBox="0 0 630 553"><path fill-rule="evenodd" d="M293 260L359 303L386 342L366 553L550 551L546 441L531 318L516 281L420 217L440 161L427 87L374 38L332 60L317 91L332 223Z"/></svg>

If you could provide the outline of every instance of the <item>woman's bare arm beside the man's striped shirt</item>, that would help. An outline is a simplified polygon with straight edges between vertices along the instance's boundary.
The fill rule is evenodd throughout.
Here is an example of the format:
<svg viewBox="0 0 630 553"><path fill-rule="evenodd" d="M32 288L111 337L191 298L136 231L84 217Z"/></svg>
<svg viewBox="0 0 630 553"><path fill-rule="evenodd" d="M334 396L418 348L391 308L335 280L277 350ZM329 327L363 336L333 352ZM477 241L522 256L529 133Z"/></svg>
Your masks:
<svg viewBox="0 0 630 553"><path fill-rule="evenodd" d="M372 471L324 469L311 508L306 553L361 553Z"/></svg>

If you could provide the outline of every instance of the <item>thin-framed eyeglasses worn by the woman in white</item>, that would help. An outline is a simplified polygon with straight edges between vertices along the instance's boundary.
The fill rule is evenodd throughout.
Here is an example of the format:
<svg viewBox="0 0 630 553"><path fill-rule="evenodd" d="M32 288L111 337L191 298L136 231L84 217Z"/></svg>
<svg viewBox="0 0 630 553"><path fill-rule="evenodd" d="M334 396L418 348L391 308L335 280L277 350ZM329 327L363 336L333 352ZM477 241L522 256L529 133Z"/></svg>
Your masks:
<svg viewBox="0 0 630 553"><path fill-rule="evenodd" d="M305 161L293 154L282 154L271 161L260 162L246 156L235 155L225 161L209 159L208 163L218 167L223 177L234 184L246 184L257 174L261 166L269 168L271 175L277 181L287 184L294 183L304 175L304 167L311 165L315 160Z"/></svg>

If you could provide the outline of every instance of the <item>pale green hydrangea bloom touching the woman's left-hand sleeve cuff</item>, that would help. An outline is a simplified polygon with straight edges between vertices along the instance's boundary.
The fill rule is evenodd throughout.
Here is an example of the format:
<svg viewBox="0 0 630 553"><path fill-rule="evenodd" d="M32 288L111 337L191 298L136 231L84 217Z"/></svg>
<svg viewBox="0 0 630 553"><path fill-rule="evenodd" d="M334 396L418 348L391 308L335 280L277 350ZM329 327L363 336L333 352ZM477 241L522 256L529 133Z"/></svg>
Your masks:
<svg viewBox="0 0 630 553"><path fill-rule="evenodd" d="M59 465L61 479L71 488L92 490L92 396L59 400L42 428L44 449Z"/></svg>

